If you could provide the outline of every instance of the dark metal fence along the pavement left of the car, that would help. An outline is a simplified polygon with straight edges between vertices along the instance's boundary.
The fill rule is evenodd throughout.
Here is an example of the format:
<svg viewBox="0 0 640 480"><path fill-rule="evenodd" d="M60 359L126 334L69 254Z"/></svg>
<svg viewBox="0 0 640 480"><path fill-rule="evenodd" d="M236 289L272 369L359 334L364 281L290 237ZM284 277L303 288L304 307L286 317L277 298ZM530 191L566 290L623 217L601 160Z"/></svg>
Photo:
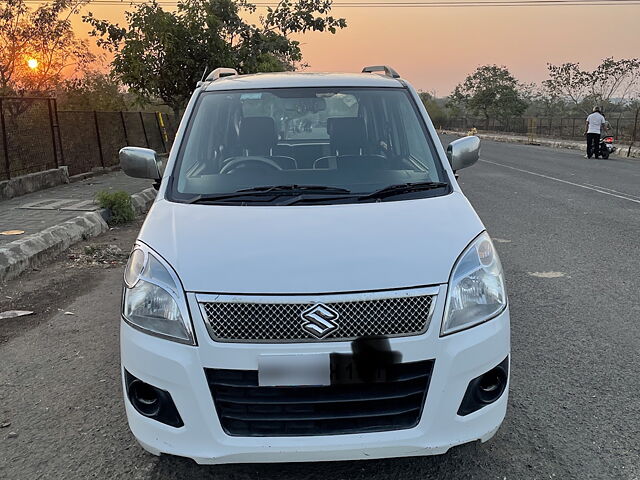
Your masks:
<svg viewBox="0 0 640 480"><path fill-rule="evenodd" d="M160 112L65 111L55 98L0 97L0 180L61 165L70 175L111 167L127 145L167 153L177 126Z"/></svg>

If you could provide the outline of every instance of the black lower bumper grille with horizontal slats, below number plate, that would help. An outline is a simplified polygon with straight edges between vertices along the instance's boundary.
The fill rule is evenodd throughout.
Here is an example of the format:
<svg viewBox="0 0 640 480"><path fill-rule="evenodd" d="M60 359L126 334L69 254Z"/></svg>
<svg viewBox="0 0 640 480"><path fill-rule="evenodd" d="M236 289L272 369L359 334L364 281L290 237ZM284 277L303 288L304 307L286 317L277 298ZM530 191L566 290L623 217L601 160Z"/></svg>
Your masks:
<svg viewBox="0 0 640 480"><path fill-rule="evenodd" d="M417 426L433 364L433 360L395 364L381 383L318 387L260 387L254 370L205 368L205 374L227 435L345 435Z"/></svg>

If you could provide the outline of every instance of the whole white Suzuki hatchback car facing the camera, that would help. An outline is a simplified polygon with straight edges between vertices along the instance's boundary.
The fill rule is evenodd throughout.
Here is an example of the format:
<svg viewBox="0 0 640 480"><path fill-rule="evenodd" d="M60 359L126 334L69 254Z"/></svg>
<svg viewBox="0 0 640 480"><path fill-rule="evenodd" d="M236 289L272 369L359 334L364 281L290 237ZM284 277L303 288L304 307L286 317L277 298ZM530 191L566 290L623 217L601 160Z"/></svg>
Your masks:
<svg viewBox="0 0 640 480"><path fill-rule="evenodd" d="M124 148L126 173L161 180L124 277L140 444L211 464L491 438L507 408L507 295L454 177L479 144L445 153L414 89L369 67L218 69L164 169Z"/></svg>

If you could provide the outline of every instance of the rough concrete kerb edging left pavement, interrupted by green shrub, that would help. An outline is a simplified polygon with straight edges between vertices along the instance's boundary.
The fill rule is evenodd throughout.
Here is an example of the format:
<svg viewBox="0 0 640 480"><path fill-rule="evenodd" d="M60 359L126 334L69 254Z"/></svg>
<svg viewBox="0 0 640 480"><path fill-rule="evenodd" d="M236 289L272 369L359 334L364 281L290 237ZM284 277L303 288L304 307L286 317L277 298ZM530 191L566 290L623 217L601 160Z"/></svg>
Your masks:
<svg viewBox="0 0 640 480"><path fill-rule="evenodd" d="M136 215L146 213L156 196L148 188L131 196ZM107 210L86 212L59 225L28 235L0 247L0 282L16 278L25 270L35 268L71 245L109 230Z"/></svg>

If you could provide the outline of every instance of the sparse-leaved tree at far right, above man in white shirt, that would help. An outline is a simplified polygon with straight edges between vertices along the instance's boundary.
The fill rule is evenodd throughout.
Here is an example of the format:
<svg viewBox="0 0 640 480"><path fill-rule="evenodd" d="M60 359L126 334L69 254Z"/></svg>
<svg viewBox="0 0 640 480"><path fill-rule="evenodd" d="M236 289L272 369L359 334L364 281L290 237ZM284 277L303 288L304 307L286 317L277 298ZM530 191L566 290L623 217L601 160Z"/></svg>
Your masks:
<svg viewBox="0 0 640 480"><path fill-rule="evenodd" d="M547 64L549 79L544 87L569 99L579 110L589 113L594 104L616 109L624 105L640 77L637 58L602 60L594 70L582 70L579 63Z"/></svg>

